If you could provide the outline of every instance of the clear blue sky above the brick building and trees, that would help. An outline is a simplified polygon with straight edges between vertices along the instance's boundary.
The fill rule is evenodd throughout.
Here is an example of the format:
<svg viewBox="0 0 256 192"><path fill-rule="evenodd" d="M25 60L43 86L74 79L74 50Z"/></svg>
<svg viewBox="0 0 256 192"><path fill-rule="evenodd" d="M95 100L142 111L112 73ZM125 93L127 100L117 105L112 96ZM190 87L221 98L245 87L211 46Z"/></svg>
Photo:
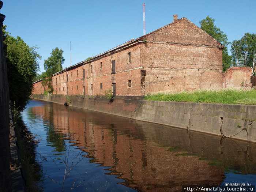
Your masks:
<svg viewBox="0 0 256 192"><path fill-rule="evenodd" d="M186 17L200 27L208 15L232 42L244 33L256 33L256 0L2 0L4 25L13 37L37 46L44 60L52 49L64 51L63 68L103 53L146 33ZM230 49L230 47L228 48ZM41 74L41 72L39 72Z"/></svg>

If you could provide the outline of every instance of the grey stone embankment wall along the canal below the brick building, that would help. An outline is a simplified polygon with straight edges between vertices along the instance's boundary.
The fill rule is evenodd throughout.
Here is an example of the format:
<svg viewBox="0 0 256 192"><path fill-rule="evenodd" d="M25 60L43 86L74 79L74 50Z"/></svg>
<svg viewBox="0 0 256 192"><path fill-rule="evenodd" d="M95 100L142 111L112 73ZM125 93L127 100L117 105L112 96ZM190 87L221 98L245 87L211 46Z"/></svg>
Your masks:
<svg viewBox="0 0 256 192"><path fill-rule="evenodd" d="M70 98L69 106L256 142L255 105L146 101L142 97L116 97L112 103L106 98L71 95L32 98L61 104Z"/></svg>

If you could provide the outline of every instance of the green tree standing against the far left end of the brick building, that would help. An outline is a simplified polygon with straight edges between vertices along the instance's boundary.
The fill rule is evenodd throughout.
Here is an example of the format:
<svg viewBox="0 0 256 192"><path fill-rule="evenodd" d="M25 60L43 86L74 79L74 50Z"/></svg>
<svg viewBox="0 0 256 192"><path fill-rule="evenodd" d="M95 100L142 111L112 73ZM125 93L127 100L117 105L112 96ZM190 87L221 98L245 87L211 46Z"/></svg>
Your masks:
<svg viewBox="0 0 256 192"><path fill-rule="evenodd" d="M49 91L52 92L52 75L62 70L62 64L65 59L62 56L63 50L55 48L52 50L51 56L45 60L44 69L45 74L42 76L42 84L48 86Z"/></svg>

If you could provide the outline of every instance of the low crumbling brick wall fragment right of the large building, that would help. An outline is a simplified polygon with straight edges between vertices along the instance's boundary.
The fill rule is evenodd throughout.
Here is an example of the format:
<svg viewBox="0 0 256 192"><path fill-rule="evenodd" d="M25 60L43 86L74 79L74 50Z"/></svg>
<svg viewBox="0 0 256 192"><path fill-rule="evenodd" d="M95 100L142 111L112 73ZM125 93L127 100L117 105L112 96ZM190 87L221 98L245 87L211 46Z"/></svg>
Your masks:
<svg viewBox="0 0 256 192"><path fill-rule="evenodd" d="M241 88L244 86L251 87L251 67L230 67L223 75L223 88Z"/></svg>

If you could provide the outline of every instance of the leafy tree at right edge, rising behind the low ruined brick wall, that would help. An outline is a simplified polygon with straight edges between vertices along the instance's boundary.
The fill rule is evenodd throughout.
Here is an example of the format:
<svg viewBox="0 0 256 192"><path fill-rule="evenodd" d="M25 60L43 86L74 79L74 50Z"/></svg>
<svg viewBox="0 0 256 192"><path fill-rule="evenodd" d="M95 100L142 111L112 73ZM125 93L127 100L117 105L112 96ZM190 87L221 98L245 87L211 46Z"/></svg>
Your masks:
<svg viewBox="0 0 256 192"><path fill-rule="evenodd" d="M255 75L256 34L245 33L240 40L234 40L230 51L234 66L252 67Z"/></svg>

